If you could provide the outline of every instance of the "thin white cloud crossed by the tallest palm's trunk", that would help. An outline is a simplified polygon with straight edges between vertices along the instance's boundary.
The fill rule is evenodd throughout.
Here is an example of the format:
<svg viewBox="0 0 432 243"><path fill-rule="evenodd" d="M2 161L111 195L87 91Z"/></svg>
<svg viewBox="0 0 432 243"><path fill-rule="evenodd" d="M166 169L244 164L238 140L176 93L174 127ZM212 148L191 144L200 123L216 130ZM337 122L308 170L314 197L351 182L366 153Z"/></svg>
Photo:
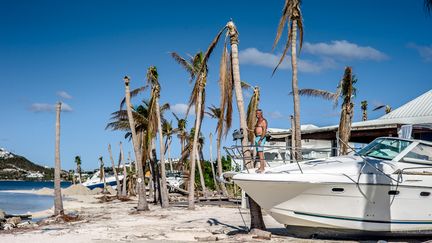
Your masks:
<svg viewBox="0 0 432 243"><path fill-rule="evenodd" d="M240 51L239 60L241 64L249 64L268 68L275 68L282 54L275 55L273 53L261 52L256 48L247 48ZM335 66L334 61L330 58L322 58L319 62L309 60L298 60L298 68L300 72L320 72L323 69L332 68ZM279 69L291 69L289 56L286 56L284 61L279 65Z"/></svg>

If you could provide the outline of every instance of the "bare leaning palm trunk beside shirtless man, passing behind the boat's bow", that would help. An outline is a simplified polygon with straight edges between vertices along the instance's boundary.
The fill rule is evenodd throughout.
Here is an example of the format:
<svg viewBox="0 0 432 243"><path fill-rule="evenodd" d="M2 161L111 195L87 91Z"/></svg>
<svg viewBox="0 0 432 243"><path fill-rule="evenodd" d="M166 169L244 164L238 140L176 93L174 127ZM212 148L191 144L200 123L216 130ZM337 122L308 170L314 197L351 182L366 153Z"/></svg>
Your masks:
<svg viewBox="0 0 432 243"><path fill-rule="evenodd" d="M246 158L251 158L250 150L247 149L248 146L248 130L246 123L246 114L244 112L244 102L243 102L243 93L241 89L241 79L240 79L240 65L238 58L238 32L235 28L235 25L232 21L228 22L227 27L229 29L229 35L231 40L231 63L233 69L233 79L234 79L234 90L236 93L237 100L237 109L239 111L240 116L240 127L243 130L243 154ZM246 161L247 165L245 166L253 166L250 161ZM265 229L264 220L262 218L261 207L251 198L249 198L250 205L250 214L251 214L251 229Z"/></svg>

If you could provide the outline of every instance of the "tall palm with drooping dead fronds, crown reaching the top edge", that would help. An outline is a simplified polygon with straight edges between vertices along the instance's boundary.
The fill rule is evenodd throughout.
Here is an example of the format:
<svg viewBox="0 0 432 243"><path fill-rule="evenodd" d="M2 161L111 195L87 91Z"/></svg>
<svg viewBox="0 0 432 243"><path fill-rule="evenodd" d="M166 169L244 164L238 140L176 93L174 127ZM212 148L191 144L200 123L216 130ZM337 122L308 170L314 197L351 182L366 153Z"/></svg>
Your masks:
<svg viewBox="0 0 432 243"><path fill-rule="evenodd" d="M300 130L300 97L298 92L298 79L297 79L297 32L299 34L299 52L303 45L303 18L300 10L301 0L285 0L285 5L282 10L282 17L279 21L279 26L276 33L276 38L273 43L273 50L277 46L282 32L285 29L285 25L288 28L288 39L285 43L285 47L279 63L273 70L273 74L276 72L279 65L283 62L288 50L291 48L291 69L292 69L292 94L294 104L294 136L295 144L294 147L295 158L301 159L301 130Z"/></svg>

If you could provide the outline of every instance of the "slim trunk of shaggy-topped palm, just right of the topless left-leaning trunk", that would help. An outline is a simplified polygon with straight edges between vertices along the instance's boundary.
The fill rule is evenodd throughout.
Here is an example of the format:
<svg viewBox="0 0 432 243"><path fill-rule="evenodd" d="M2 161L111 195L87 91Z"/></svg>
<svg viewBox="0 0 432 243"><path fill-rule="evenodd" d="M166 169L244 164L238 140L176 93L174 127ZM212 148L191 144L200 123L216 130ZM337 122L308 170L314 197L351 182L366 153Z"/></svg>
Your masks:
<svg viewBox="0 0 432 243"><path fill-rule="evenodd" d="M159 98L156 98L156 117L158 123L158 133L159 133L159 152L160 152L160 170L161 170L161 199L162 199L162 208L169 207L169 199L168 199L168 188L166 182L166 169L165 169L165 147L163 144L163 134L162 134L162 123L160 117L160 108L159 108Z"/></svg>

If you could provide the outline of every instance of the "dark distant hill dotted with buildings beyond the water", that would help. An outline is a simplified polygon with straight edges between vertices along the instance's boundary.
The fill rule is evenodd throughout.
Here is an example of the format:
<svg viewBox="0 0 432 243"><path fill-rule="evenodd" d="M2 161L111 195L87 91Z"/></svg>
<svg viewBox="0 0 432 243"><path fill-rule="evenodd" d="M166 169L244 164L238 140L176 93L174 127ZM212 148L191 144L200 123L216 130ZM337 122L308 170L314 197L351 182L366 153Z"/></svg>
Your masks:
<svg viewBox="0 0 432 243"><path fill-rule="evenodd" d="M54 169L0 148L0 180L52 180Z"/></svg>

